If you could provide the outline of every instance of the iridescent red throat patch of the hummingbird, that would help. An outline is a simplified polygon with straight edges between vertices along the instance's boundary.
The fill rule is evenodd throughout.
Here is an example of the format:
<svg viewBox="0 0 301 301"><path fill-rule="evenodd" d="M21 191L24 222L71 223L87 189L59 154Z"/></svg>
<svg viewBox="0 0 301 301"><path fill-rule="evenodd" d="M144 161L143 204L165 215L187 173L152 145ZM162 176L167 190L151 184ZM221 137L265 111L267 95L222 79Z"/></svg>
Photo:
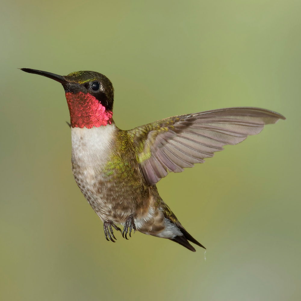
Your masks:
<svg viewBox="0 0 301 301"><path fill-rule="evenodd" d="M111 124L113 112L106 108L90 93L66 92L71 127L91 129Z"/></svg>

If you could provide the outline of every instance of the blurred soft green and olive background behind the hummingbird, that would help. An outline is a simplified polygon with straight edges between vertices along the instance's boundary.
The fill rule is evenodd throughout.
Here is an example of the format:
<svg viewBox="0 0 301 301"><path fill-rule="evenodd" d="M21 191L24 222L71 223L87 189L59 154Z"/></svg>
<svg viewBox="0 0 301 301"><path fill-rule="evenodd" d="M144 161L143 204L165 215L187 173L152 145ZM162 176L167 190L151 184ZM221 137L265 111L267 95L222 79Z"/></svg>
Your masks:
<svg viewBox="0 0 301 301"><path fill-rule="evenodd" d="M1 6L1 300L300 300L300 1ZM71 173L63 88L24 67L105 74L122 129L231 106L287 120L158 183L206 261L113 244Z"/></svg>

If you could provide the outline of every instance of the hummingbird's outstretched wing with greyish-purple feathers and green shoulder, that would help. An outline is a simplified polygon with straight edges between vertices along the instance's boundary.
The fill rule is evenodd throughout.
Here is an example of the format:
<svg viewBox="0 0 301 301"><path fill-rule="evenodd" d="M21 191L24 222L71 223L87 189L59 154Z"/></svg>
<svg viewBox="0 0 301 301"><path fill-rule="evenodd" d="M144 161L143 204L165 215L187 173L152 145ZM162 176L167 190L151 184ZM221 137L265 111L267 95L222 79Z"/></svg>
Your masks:
<svg viewBox="0 0 301 301"><path fill-rule="evenodd" d="M253 107L233 107L158 120L129 130L144 178L153 185L168 172L203 163L227 144L256 135L265 124L285 119Z"/></svg>

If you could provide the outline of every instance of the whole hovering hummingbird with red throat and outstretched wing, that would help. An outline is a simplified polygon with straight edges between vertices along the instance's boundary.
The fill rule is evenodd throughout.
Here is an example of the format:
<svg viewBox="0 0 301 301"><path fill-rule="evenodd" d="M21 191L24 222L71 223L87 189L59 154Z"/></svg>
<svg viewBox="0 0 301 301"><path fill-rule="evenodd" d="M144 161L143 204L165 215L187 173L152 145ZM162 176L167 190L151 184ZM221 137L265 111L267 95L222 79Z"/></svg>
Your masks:
<svg viewBox="0 0 301 301"><path fill-rule="evenodd" d="M126 239L137 230L168 238L193 252L196 250L189 241L206 249L164 203L156 183L169 172L203 163L224 145L258 134L265 124L285 119L261 108L230 107L122 130L113 120L112 82L103 74L78 71L60 76L21 70L63 85L70 112L73 176L103 221L105 238L112 242L116 240L114 228Z"/></svg>

